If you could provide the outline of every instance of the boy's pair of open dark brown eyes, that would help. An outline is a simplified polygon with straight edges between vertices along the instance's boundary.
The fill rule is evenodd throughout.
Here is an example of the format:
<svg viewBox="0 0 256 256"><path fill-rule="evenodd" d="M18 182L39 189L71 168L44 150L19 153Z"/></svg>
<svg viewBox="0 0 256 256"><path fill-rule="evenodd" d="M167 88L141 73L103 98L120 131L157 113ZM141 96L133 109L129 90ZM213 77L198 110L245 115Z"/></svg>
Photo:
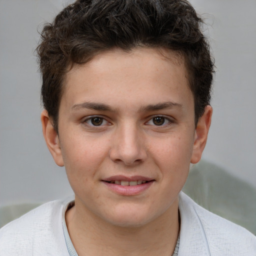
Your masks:
<svg viewBox="0 0 256 256"><path fill-rule="evenodd" d="M155 124L155 123L150 123L150 122L154 122L154 118L163 118L163 123L160 123L159 125ZM99 121L99 125L94 125L92 123L92 121ZM96 120L96 119L99 119L99 120ZM160 119L158 119L160 121ZM101 121L101 122L100 122ZM157 119L155 119L155 121L157 121ZM167 121L167 123L166 123ZM90 123L89 123L90 122ZM85 120L83 120L83 123L86 123L87 125L89 126L92 126L92 127L101 127L103 125L106 125L106 124L110 124L104 117L102 116L98 116L98 115L93 115L93 116L89 116L87 117ZM147 122L145 122L145 124L147 125L152 125L152 126L159 126L159 127L166 127L168 125L170 125L171 123L173 123L173 120L171 120L170 118L164 116L164 115L155 115L155 116L152 116Z"/></svg>

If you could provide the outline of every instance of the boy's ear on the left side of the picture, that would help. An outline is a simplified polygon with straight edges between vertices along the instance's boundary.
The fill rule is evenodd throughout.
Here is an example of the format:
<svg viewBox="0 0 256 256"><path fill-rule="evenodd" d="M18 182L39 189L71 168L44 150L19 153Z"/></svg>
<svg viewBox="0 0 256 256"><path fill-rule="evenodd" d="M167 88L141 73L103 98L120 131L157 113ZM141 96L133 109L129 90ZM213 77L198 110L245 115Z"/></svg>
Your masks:
<svg viewBox="0 0 256 256"><path fill-rule="evenodd" d="M64 166L61 147L58 139L57 132L52 126L51 119L48 112L44 109L41 113L42 133L46 142L46 145L58 166Z"/></svg>

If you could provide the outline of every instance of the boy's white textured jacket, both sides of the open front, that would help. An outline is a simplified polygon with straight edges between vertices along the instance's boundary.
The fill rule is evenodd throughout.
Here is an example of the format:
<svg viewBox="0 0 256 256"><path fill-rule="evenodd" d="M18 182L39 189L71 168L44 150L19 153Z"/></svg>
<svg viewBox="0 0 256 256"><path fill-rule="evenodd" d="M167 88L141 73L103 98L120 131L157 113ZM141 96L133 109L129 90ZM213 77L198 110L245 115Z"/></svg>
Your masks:
<svg viewBox="0 0 256 256"><path fill-rule="evenodd" d="M45 203L0 229L0 256L69 256L62 214L70 200ZM256 255L256 237L180 192L178 256Z"/></svg>

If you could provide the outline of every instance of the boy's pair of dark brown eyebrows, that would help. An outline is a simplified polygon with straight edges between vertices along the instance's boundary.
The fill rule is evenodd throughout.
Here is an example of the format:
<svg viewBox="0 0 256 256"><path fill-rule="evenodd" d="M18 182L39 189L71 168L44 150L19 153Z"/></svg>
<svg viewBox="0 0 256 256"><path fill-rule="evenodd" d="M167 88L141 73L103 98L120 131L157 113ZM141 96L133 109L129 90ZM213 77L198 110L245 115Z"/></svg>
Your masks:
<svg viewBox="0 0 256 256"><path fill-rule="evenodd" d="M141 106L139 109L139 112L160 110L160 109L173 108L173 107L182 108L182 105L176 102L171 102L171 101L161 102L161 103ZM95 102L82 102L82 103L74 104L71 107L71 110L80 110L83 108L88 108L93 110L103 110L103 111L115 111L107 104L95 103Z"/></svg>

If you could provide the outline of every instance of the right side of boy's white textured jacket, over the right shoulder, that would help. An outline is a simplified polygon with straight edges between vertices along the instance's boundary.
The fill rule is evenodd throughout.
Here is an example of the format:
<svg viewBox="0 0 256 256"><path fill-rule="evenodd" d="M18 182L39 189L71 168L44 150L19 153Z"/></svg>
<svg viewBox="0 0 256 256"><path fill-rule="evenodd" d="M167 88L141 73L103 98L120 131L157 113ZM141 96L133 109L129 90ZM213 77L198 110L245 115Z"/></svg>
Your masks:
<svg viewBox="0 0 256 256"><path fill-rule="evenodd" d="M255 256L256 237L180 192L178 256Z"/></svg>

